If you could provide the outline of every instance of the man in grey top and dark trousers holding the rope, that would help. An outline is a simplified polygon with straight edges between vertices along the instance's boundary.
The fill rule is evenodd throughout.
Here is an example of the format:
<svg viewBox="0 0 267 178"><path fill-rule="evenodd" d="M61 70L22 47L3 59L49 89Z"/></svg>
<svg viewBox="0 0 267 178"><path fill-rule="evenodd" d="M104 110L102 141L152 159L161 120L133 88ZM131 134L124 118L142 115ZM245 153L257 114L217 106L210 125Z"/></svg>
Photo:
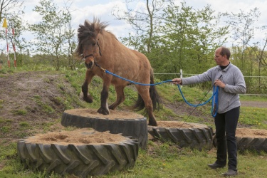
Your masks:
<svg viewBox="0 0 267 178"><path fill-rule="evenodd" d="M224 176L237 174L236 126L239 120L239 94L246 93L246 83L241 70L234 66L229 58L228 48L220 47L215 51L214 60L218 66L189 78L174 78L172 82L189 85L211 81L219 86L218 110L214 117L216 127L216 162L208 164L211 169L225 167L228 153L228 171Z"/></svg>

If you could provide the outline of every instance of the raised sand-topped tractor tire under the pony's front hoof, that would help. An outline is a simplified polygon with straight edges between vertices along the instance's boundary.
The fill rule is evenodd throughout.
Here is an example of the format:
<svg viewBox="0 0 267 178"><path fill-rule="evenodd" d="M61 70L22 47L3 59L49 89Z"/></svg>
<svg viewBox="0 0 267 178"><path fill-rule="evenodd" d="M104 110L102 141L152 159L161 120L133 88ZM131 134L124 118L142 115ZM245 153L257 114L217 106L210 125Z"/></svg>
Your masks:
<svg viewBox="0 0 267 178"><path fill-rule="evenodd" d="M93 109L73 109L63 112L61 125L79 128L91 127L98 132L122 133L138 140L140 148L147 147L147 118L133 112L110 110L110 115L101 115Z"/></svg>

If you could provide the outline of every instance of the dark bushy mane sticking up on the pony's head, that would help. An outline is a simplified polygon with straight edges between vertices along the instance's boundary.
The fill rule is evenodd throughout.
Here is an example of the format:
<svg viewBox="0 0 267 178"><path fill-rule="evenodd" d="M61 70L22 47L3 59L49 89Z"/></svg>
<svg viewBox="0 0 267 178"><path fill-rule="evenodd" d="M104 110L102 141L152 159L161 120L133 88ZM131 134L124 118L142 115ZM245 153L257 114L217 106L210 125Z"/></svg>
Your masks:
<svg viewBox="0 0 267 178"><path fill-rule="evenodd" d="M103 33L108 26L107 22L100 22L100 19L93 19L93 22L85 20L84 24L80 24L78 28L78 46L76 53L80 56L83 54L83 43L88 38L96 38L98 33Z"/></svg>

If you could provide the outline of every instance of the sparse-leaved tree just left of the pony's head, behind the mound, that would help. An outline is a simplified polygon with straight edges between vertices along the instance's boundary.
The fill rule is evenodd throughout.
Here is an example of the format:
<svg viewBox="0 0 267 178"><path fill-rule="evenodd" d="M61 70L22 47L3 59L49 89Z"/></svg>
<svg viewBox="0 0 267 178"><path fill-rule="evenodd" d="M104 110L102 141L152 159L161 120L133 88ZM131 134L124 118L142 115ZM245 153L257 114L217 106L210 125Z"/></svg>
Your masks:
<svg viewBox="0 0 267 178"><path fill-rule="evenodd" d="M63 56L69 55L69 45L73 45L74 41L70 11L59 9L53 4L53 0L41 0L39 3L33 11L42 16L42 21L29 25L36 37L36 51L49 55L53 66L60 70L64 62Z"/></svg>

